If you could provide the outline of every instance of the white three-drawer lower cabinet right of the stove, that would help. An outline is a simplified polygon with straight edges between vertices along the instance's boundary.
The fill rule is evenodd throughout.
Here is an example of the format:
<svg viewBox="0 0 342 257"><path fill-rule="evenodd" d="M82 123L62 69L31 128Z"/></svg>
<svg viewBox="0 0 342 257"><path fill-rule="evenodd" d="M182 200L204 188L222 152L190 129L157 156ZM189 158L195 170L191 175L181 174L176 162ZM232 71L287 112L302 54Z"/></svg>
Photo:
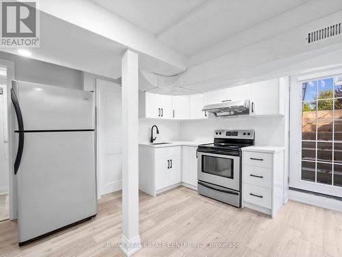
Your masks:
<svg viewBox="0 0 342 257"><path fill-rule="evenodd" d="M242 149L242 206L271 215L283 203L284 149Z"/></svg>

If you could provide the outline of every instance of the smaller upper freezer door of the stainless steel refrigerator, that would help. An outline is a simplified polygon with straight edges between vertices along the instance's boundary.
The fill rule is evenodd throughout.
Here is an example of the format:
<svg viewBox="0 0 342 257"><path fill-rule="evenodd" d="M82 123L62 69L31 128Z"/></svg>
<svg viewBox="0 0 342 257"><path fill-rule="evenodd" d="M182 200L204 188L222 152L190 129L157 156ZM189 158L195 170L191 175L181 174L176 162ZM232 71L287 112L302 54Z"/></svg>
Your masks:
<svg viewBox="0 0 342 257"><path fill-rule="evenodd" d="M94 93L28 82L12 82L12 88L25 130L94 129Z"/></svg>

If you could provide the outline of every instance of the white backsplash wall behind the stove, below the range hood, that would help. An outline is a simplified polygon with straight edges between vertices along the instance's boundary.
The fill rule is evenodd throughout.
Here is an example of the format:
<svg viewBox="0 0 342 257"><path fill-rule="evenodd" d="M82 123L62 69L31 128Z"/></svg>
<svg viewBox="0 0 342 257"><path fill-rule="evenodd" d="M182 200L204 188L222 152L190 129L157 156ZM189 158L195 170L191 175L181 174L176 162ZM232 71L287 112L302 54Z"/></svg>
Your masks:
<svg viewBox="0 0 342 257"><path fill-rule="evenodd" d="M284 146L285 117L231 117L181 121L181 140L213 141L214 130L255 130L255 145Z"/></svg>

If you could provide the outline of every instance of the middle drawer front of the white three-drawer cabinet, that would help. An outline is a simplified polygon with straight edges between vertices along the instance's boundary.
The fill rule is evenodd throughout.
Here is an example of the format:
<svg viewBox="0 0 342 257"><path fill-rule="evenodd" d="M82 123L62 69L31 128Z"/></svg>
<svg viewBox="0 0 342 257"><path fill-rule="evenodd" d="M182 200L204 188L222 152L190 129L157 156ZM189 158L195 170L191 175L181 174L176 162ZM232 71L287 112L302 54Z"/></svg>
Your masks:
<svg viewBox="0 0 342 257"><path fill-rule="evenodd" d="M272 169L244 165L244 183L272 188Z"/></svg>

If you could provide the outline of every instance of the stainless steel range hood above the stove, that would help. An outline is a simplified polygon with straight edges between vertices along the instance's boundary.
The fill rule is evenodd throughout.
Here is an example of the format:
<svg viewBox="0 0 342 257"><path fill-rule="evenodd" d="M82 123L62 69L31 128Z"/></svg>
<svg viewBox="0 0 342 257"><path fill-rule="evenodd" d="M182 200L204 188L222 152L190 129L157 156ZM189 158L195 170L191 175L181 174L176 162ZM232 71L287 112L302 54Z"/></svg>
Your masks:
<svg viewBox="0 0 342 257"><path fill-rule="evenodd" d="M203 107L203 112L211 112L215 117L249 115L250 100L223 101L222 103L208 104Z"/></svg>

